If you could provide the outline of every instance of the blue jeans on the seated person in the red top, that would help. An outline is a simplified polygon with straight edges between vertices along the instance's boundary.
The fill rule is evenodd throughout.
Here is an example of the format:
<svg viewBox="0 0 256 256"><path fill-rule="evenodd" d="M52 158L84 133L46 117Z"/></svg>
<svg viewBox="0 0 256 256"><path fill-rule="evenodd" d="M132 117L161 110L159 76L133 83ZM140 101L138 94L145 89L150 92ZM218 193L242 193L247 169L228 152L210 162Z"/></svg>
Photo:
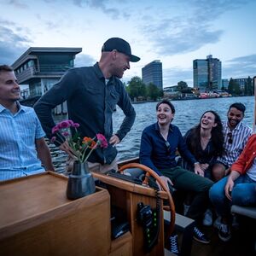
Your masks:
<svg viewBox="0 0 256 256"><path fill-rule="evenodd" d="M209 192L212 205L220 216L228 217L232 204L239 206L256 205L256 183L247 174L236 178L231 193L232 201L227 199L224 192L227 180L228 177L222 178L212 186Z"/></svg>

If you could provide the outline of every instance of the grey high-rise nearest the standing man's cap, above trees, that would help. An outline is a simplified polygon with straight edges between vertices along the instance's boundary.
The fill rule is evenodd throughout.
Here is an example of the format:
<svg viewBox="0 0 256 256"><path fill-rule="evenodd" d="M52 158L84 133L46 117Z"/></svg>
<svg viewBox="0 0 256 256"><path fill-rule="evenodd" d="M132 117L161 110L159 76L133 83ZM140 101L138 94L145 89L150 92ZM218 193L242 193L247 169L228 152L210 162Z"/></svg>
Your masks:
<svg viewBox="0 0 256 256"><path fill-rule="evenodd" d="M160 60L148 63L143 67L142 72L144 84L152 83L156 85L158 89L163 90L163 70Z"/></svg>

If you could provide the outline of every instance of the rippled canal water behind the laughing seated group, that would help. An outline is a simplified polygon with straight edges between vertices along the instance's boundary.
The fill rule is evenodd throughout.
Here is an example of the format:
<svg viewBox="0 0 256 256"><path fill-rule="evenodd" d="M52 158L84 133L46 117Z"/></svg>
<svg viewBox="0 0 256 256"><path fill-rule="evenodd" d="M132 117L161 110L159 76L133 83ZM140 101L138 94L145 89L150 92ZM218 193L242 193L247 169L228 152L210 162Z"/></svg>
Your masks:
<svg viewBox="0 0 256 256"><path fill-rule="evenodd" d="M201 99L201 100L186 100L173 101L176 109L175 117L172 121L173 125L177 125L184 135L194 125L197 125L201 114L207 110L216 111L222 120L226 120L227 111L230 104L235 102L243 103L247 110L243 122L250 127L253 127L253 111L254 111L254 97L228 97L218 99ZM145 102L134 104L133 107L137 113L135 123L131 131L126 135L121 143L117 146L119 151L118 159L127 160L138 156L140 139L143 129L153 124L156 121L155 106L157 102ZM120 108L113 113L113 131L117 131L119 125L124 119L124 114Z"/></svg>

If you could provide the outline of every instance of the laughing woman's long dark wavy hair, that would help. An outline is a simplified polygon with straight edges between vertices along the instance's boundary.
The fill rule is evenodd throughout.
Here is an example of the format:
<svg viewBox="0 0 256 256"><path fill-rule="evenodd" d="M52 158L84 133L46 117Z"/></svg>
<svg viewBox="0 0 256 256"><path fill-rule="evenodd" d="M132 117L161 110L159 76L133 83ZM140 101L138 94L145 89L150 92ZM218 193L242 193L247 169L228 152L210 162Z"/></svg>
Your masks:
<svg viewBox="0 0 256 256"><path fill-rule="evenodd" d="M213 113L214 115L214 123L217 123L215 127L212 127L212 145L213 145L213 152L214 155L222 155L224 152L224 135L223 135L223 126L221 123L221 119L215 111L212 110L207 110L205 113ZM201 115L202 117L205 115L203 113ZM191 137L189 139L190 147L189 149L191 150L192 154L198 154L201 152L201 119L198 125L196 125L192 130L191 130Z"/></svg>

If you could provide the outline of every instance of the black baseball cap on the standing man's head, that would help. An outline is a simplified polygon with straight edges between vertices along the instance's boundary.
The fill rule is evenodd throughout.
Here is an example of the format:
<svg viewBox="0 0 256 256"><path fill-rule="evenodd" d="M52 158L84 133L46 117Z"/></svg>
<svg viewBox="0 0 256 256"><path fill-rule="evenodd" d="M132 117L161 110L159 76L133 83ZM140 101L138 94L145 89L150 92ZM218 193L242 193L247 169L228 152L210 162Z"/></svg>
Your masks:
<svg viewBox="0 0 256 256"><path fill-rule="evenodd" d="M137 62L141 59L136 55L131 54L130 44L122 38L109 38L102 46L102 52L112 51L113 49L116 49L117 51L125 55L128 55L130 57L131 62Z"/></svg>

